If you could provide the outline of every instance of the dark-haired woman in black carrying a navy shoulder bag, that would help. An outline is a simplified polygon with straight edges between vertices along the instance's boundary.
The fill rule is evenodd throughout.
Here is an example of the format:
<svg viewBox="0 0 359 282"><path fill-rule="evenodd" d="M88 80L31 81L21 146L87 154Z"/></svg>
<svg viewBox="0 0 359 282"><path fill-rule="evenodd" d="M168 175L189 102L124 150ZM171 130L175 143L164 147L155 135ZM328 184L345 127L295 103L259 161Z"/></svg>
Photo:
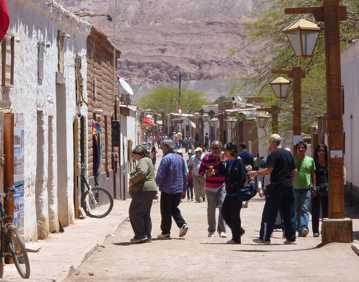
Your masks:
<svg viewBox="0 0 359 282"><path fill-rule="evenodd" d="M240 244L245 231L241 227L242 202L238 201L237 193L247 181L247 170L243 160L238 156L236 144L229 142L223 148L224 154L221 154L218 164L218 172L224 173L226 177L226 197L222 205L222 216L232 231L232 239L227 243Z"/></svg>

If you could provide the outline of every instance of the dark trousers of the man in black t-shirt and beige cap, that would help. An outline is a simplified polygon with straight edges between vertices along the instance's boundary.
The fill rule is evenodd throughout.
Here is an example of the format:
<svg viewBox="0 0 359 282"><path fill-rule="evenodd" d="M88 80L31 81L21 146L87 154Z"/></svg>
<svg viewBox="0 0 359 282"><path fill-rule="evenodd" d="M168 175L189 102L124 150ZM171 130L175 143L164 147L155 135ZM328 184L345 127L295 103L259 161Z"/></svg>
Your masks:
<svg viewBox="0 0 359 282"><path fill-rule="evenodd" d="M270 241L278 210L283 213L286 238L295 241L296 219L293 186L276 186L273 192L267 192L263 208L260 238Z"/></svg>

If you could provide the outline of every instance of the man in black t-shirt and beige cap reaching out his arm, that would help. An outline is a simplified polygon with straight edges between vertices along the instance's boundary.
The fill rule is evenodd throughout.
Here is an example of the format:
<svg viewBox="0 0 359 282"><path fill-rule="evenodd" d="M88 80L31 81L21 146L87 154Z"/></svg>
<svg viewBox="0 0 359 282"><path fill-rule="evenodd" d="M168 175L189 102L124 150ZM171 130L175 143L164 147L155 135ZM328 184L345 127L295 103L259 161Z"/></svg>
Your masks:
<svg viewBox="0 0 359 282"><path fill-rule="evenodd" d="M285 244L296 244L295 240L295 201L293 182L296 177L296 166L292 155L281 146L281 137L272 134L269 145L273 152L267 158L267 168L262 171L248 172L249 176L270 174L272 191L266 191L267 199L264 204L260 237L253 239L255 243L270 244L278 209L281 208L285 225Z"/></svg>

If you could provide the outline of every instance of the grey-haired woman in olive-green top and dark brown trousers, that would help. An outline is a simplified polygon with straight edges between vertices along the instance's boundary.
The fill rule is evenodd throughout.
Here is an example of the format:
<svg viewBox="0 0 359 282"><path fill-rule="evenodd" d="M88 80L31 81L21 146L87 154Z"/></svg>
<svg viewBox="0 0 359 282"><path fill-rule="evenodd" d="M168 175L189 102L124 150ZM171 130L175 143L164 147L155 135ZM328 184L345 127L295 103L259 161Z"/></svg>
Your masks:
<svg viewBox="0 0 359 282"><path fill-rule="evenodd" d="M131 242L152 242L151 206L157 194L154 168L148 151L138 145L132 150L137 165L130 172L129 194L132 198L128 210L134 237Z"/></svg>

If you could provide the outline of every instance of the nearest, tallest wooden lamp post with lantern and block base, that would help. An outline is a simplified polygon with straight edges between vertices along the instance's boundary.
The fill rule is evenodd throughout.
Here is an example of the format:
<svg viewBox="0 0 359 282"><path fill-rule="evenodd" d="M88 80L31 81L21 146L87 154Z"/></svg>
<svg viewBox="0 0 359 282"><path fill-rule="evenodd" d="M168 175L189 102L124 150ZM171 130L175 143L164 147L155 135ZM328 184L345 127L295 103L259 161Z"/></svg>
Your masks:
<svg viewBox="0 0 359 282"><path fill-rule="evenodd" d="M327 81L327 126L328 126L328 182L329 182L329 219L323 220L322 243L352 242L352 221L344 213L344 171L343 171L343 93L341 78L340 21L347 20L347 7L339 6L339 0L323 0L323 6L288 8L286 14L313 14L315 21L324 22L325 61ZM301 26L298 25L301 29ZM287 32L286 32L287 31ZM286 29L288 40L293 50L308 50L307 54L295 55L300 58L310 57L309 47L315 47L314 35L306 40L298 40ZM314 32L314 31L312 31ZM297 32L297 34L301 34ZM303 35L302 35L303 36ZM294 38L294 40L291 39ZM295 39L296 38L296 39ZM315 43L314 43L315 41ZM305 47L306 46L306 47Z"/></svg>

